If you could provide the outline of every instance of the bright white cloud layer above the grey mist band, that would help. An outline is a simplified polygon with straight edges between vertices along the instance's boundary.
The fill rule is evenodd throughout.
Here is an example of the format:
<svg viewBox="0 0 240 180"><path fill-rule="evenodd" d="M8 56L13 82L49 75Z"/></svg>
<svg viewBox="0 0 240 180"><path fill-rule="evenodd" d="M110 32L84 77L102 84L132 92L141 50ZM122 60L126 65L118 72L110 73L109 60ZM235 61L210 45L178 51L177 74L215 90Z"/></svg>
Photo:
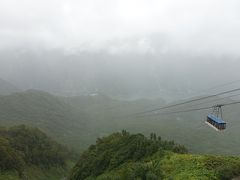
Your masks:
<svg viewBox="0 0 240 180"><path fill-rule="evenodd" d="M0 48L240 55L239 0L0 0Z"/></svg>

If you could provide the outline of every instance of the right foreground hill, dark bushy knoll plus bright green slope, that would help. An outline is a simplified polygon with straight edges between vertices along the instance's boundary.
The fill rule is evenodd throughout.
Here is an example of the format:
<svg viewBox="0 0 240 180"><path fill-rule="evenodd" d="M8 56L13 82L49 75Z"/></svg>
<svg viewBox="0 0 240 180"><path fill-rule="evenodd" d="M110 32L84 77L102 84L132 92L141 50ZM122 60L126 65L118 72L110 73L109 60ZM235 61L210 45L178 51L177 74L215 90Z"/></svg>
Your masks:
<svg viewBox="0 0 240 180"><path fill-rule="evenodd" d="M232 179L240 158L187 154L184 146L126 131L98 139L73 168L70 180Z"/></svg>

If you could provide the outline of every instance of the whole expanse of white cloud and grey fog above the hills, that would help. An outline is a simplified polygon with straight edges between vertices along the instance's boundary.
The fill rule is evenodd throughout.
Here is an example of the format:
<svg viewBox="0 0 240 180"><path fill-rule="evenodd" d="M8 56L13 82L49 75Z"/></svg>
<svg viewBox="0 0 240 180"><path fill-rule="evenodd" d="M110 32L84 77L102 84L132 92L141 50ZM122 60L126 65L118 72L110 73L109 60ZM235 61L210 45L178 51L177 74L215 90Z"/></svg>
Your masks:
<svg viewBox="0 0 240 180"><path fill-rule="evenodd" d="M0 78L58 95L182 99L240 79L239 10L237 0L1 0Z"/></svg>

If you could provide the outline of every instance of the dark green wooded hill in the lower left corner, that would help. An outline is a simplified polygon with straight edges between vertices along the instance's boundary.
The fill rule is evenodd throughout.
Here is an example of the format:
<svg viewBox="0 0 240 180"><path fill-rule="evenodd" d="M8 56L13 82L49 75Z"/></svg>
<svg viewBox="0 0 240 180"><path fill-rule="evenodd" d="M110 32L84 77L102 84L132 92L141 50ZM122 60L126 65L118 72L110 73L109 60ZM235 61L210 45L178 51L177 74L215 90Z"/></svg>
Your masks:
<svg viewBox="0 0 240 180"><path fill-rule="evenodd" d="M0 129L0 179L63 177L70 158L66 147L37 128L21 125ZM39 178L33 172L40 173Z"/></svg>

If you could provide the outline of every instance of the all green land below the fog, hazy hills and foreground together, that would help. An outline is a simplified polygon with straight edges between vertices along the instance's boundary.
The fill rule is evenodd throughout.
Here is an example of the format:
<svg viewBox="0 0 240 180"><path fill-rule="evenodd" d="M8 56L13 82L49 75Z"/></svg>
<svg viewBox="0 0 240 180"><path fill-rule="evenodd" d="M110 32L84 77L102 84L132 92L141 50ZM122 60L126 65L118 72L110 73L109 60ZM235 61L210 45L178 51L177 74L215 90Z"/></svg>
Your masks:
<svg viewBox="0 0 240 180"><path fill-rule="evenodd" d="M204 124L207 111L123 116L163 105L160 99L128 102L104 95L57 97L36 90L0 96L0 123L8 127L0 128L0 180L61 179L76 156L57 142L82 152L96 137L103 138L82 153L71 179L231 179L240 175L239 158L185 154L184 147L194 153L239 155L239 106L224 109L229 123L222 133ZM9 128L19 124L38 129ZM158 132L167 141L155 134L146 138L126 131L107 136L120 129Z"/></svg>

